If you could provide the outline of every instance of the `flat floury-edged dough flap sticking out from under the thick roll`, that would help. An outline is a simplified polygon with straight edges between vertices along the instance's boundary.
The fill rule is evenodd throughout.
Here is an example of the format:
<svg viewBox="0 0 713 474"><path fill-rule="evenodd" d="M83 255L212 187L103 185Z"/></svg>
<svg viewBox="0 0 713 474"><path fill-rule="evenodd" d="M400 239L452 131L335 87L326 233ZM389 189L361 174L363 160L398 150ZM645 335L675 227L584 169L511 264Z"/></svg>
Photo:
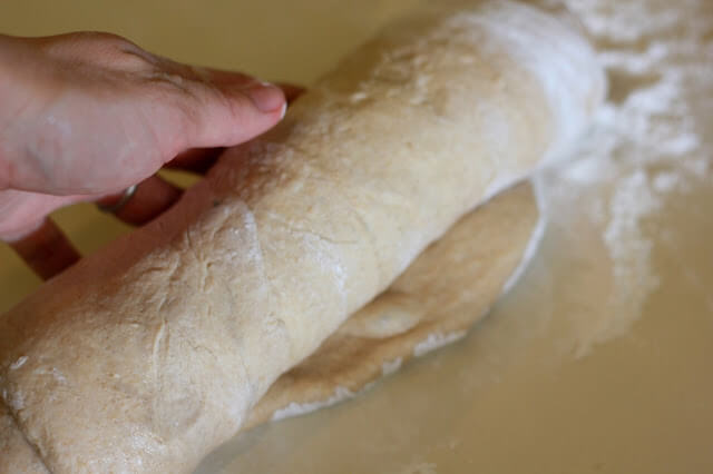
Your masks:
<svg viewBox="0 0 713 474"><path fill-rule="evenodd" d="M466 215L389 289L277 378L243 429L350 398L412 357L465 336L520 275L543 229L529 184Z"/></svg>

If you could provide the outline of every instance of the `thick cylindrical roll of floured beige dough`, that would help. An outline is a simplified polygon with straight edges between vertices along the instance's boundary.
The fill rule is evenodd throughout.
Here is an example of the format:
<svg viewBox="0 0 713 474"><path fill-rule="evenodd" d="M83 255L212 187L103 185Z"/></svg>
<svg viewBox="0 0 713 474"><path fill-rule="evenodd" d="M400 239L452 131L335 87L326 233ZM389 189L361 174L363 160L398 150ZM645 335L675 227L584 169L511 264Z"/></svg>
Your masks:
<svg viewBox="0 0 713 474"><path fill-rule="evenodd" d="M0 320L2 428L32 447L17 455L189 471L429 243L574 139L603 91L585 41L528 7L389 27L169 213Z"/></svg>

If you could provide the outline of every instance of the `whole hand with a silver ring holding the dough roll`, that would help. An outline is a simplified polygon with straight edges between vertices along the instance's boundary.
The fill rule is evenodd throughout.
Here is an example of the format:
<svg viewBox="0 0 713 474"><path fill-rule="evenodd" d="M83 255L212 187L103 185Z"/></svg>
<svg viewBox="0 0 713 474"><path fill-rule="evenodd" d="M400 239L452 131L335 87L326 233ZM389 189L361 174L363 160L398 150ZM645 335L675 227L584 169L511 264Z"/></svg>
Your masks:
<svg viewBox="0 0 713 474"><path fill-rule="evenodd" d="M173 62L106 33L0 36L0 240L47 278L79 256L48 218L79 201L144 224L180 190L154 174L204 168L284 116L297 88Z"/></svg>

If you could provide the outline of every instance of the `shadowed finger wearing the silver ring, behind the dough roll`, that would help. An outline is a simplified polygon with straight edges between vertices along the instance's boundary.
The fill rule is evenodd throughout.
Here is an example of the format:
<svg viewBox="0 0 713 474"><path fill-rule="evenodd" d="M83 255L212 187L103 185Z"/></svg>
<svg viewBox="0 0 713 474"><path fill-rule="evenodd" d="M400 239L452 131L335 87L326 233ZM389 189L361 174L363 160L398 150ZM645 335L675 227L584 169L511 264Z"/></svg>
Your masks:
<svg viewBox="0 0 713 474"><path fill-rule="evenodd" d="M134 226L141 226L167 210L180 198L182 189L165 181L158 176L152 176L136 188L136 192L121 206L111 213L120 220ZM123 194L108 196L97 203L113 206L119 201Z"/></svg>

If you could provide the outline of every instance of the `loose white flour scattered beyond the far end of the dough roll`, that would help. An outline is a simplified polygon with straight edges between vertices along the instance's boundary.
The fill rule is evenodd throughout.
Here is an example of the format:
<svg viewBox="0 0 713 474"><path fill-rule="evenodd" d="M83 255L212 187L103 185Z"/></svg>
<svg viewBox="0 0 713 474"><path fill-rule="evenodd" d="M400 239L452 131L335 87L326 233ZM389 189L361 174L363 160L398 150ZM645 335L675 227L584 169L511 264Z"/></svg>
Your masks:
<svg viewBox="0 0 713 474"><path fill-rule="evenodd" d="M709 174L712 154L692 96L704 101L713 97L713 22L703 20L711 18L705 0L686 0L685 9L655 1L564 2L596 43L611 87L576 159L537 178L548 217L563 234L567 226L574 228L573 216L586 220L577 228L590 235L568 236L568 245L585 254L578 258L588 271L605 275L608 292L600 305L565 296L574 309L574 350L585 355L641 317L661 284L648 221L670 196L690 191Z"/></svg>

